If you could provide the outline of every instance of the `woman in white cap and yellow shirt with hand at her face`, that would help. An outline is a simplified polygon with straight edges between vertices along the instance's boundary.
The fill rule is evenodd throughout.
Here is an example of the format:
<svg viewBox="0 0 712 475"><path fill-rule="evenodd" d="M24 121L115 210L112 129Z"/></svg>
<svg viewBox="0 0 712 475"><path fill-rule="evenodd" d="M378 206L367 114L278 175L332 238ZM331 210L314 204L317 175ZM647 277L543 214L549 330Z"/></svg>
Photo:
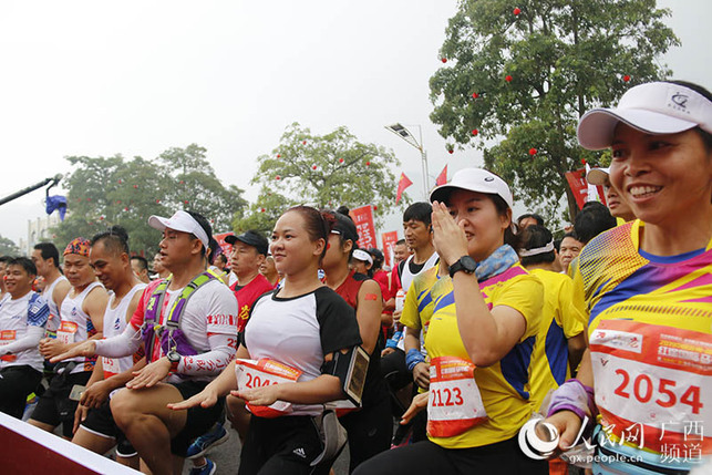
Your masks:
<svg viewBox="0 0 712 475"><path fill-rule="evenodd" d="M427 406L429 441L382 453L357 474L546 474L546 462L527 458L516 441L534 411L529 363L544 288L514 250L512 193L498 176L466 168L431 202L450 277L431 289L430 391L403 416Z"/></svg>

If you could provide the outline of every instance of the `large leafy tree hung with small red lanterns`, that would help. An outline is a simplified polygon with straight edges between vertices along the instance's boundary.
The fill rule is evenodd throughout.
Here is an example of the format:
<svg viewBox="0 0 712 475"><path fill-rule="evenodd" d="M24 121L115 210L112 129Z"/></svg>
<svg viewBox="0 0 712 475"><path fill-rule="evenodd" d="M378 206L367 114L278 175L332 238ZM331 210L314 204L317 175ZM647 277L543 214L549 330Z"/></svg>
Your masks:
<svg viewBox="0 0 712 475"><path fill-rule="evenodd" d="M565 173L600 154L576 142L587 110L667 78L658 58L679 44L654 0L463 0L431 78L440 133L484 151L485 166L527 206L555 217ZM494 145L493 145L494 144ZM453 145L450 145L451 147ZM556 218L555 218L556 219Z"/></svg>

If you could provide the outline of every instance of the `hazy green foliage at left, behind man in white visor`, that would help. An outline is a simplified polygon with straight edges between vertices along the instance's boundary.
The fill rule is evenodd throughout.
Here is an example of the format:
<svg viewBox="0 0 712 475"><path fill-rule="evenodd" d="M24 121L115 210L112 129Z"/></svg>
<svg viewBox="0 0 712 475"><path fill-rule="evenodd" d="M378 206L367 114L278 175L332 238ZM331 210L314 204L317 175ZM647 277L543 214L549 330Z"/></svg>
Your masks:
<svg viewBox="0 0 712 475"><path fill-rule="evenodd" d="M64 183L69 213L54 229L58 247L116 224L128 231L132 251L152 256L161 233L147 225L148 216L169 216L177 209L203 214L214 230L229 229L233 216L246 204L243 190L223 186L205 153L193 144L171 148L155 161L125 161L121 155L68 157L75 169Z"/></svg>

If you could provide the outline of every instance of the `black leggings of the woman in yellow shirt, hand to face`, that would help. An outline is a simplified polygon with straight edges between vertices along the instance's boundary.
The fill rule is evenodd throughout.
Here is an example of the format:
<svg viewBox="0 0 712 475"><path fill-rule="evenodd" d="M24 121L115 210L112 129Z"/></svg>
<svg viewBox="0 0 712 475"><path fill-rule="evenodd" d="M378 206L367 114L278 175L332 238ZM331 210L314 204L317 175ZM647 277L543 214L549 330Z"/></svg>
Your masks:
<svg viewBox="0 0 712 475"><path fill-rule="evenodd" d="M413 445L383 452L359 465L354 475L472 475L523 474L547 475L547 461L528 458L519 450L517 437L472 448L443 448L423 441Z"/></svg>

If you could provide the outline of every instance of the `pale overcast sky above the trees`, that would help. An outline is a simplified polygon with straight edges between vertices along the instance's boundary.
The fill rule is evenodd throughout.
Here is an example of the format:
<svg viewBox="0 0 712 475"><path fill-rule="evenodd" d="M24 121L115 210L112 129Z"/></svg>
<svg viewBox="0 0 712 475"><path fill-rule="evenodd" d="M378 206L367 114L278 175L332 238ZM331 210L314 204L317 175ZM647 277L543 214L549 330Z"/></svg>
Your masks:
<svg viewBox="0 0 712 475"><path fill-rule="evenodd" d="M659 4L672 9L682 41L663 62L709 89L712 2ZM4 0L0 197L69 172L68 155L153 158L197 143L251 199L256 157L299 122L318 134L345 125L392 148L420 199L420 155L384 125L422 126L432 176L445 164L451 176L482 164L474 149L447 154L429 120L427 81L443 65L437 51L455 9L454 0ZM43 196L2 205L0 235L27 238Z"/></svg>

